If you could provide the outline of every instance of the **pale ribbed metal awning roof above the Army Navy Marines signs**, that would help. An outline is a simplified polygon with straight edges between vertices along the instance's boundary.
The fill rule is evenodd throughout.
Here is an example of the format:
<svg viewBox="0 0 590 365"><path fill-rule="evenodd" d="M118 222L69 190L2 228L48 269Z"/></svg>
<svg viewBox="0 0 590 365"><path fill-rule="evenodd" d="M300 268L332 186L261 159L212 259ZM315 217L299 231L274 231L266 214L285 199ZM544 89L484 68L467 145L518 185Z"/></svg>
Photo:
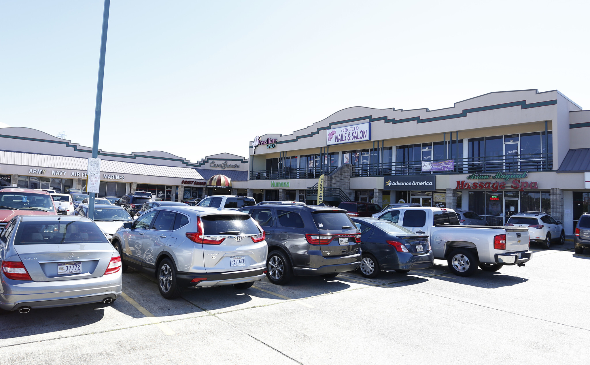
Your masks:
<svg viewBox="0 0 590 365"><path fill-rule="evenodd" d="M0 164L30 166L31 168L61 168L64 170L88 170L88 159L55 155L25 154L0 151ZM194 168L136 164L134 162L100 160L100 171L110 174L132 174L159 177L207 180Z"/></svg>

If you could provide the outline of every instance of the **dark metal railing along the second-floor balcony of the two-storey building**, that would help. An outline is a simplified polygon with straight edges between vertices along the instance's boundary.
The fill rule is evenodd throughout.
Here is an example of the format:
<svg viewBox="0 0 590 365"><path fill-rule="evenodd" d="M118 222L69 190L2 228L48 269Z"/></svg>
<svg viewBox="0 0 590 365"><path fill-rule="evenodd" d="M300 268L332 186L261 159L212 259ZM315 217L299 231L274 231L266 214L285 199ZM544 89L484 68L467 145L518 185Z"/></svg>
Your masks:
<svg viewBox="0 0 590 365"><path fill-rule="evenodd" d="M441 161L434 161L441 162ZM336 167L294 168L291 170L251 171L250 180L309 179L330 174ZM517 171L553 170L553 154L504 155L490 157L465 157L453 159L452 170L422 171L422 161L379 162L352 165L351 177L383 175L421 175L421 174L471 174Z"/></svg>

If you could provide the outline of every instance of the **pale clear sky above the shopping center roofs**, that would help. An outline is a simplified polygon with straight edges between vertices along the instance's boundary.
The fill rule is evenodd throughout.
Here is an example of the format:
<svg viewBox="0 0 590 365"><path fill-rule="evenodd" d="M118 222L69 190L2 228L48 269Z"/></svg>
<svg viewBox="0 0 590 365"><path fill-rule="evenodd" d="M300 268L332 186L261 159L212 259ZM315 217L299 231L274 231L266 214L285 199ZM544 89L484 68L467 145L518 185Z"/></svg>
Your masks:
<svg viewBox="0 0 590 365"><path fill-rule="evenodd" d="M349 106L558 89L590 109L588 1L119 1L99 147L247 155ZM0 0L0 123L90 146L103 1ZM2 149L2 146L0 146Z"/></svg>

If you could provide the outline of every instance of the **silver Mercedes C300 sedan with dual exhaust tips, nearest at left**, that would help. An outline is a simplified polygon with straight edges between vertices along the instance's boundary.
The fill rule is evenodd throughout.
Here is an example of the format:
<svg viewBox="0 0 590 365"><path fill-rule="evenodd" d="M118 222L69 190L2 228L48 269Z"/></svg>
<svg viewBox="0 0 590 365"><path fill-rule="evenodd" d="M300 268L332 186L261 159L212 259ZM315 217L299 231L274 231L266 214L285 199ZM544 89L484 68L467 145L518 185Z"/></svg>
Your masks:
<svg viewBox="0 0 590 365"><path fill-rule="evenodd" d="M0 309L109 304L121 294L119 253L87 217L15 216L0 233Z"/></svg>

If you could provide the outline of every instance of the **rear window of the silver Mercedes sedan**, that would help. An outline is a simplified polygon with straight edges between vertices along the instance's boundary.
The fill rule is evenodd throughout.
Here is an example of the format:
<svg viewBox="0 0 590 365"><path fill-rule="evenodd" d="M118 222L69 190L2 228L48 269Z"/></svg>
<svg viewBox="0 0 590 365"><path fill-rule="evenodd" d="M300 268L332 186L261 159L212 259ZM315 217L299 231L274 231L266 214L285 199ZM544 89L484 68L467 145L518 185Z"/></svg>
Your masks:
<svg viewBox="0 0 590 365"><path fill-rule="evenodd" d="M93 222L30 221L18 225L15 245L109 242Z"/></svg>

